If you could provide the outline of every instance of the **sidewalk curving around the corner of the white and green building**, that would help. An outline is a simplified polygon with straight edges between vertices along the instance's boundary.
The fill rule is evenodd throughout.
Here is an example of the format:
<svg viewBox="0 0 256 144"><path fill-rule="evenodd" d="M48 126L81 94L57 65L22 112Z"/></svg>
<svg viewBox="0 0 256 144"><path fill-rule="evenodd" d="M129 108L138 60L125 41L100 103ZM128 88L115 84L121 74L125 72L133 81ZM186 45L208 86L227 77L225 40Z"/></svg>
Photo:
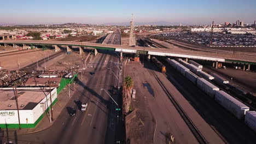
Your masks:
<svg viewBox="0 0 256 144"><path fill-rule="evenodd" d="M74 90L78 91L76 89L81 89L82 87L80 87L77 84L74 84ZM68 103L69 99L73 97L73 94L75 91L72 91L73 87L70 86L70 97L68 95L68 85L62 89L62 91L59 93L59 95L57 95L57 102L56 104L53 106L53 118L54 120L57 119L57 117L59 117L61 111L63 108L66 107L66 104ZM21 130L19 128L16 129L8 129L8 133L11 133L12 131L16 131L17 135L22 135L22 134L31 134L31 133L36 133L38 131L42 131L45 130L47 128L49 128L55 121L52 121L50 123L50 115L49 113L46 114L46 112L44 113L44 117L42 118L42 120L37 124L37 126L35 128L22 128ZM4 134L6 134L6 129L2 128L2 131ZM5 137L5 136L4 136ZM3 137L3 138L4 138Z"/></svg>

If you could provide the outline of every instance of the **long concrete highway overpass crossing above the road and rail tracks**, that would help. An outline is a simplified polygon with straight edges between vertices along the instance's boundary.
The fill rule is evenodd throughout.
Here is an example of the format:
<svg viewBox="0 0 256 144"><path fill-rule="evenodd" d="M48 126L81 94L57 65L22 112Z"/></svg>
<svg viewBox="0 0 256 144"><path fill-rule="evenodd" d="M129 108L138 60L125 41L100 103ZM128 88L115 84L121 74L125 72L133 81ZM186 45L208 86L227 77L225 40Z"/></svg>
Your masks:
<svg viewBox="0 0 256 144"><path fill-rule="evenodd" d="M113 44L97 44L97 43L81 43L71 41L43 41L43 40L2 40L0 45L31 45L31 46L55 46L55 51L59 51L58 48L61 46L67 46L67 51L71 51L70 47L78 46L80 51L83 47L91 47L93 49L113 50L123 53L140 53L154 56L171 56L171 57L182 57L192 59L203 59L207 61L216 62L235 62L243 64L256 64L256 53L252 55L243 55L238 53L233 55L232 53L217 53L217 52L202 52L202 51L190 51L190 50L172 50L166 48L153 48L153 47L129 47L124 45L113 45Z"/></svg>

